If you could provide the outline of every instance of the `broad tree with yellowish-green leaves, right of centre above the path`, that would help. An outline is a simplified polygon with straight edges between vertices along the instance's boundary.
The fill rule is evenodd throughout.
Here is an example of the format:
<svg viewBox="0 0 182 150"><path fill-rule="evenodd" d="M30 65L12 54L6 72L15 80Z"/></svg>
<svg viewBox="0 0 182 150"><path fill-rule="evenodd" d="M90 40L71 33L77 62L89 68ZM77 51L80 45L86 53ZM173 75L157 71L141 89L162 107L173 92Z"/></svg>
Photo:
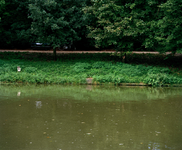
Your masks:
<svg viewBox="0 0 182 150"><path fill-rule="evenodd" d="M96 23L88 26L88 37L95 39L96 47L113 46L125 51L133 50L137 42L142 45L148 18L145 17L146 10L141 8L145 8L147 2L92 0L92 3L84 11L96 18Z"/></svg>

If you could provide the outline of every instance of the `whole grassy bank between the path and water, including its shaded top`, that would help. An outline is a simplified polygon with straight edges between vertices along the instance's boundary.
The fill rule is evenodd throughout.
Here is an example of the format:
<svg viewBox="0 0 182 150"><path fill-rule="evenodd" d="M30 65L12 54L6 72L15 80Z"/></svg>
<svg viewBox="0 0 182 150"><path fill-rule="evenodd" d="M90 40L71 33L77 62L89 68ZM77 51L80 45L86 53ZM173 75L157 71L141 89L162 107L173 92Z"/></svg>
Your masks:
<svg viewBox="0 0 182 150"><path fill-rule="evenodd" d="M152 86L182 84L180 64L178 62L171 64L169 60L172 58L163 55L144 57L129 54L127 63L122 62L122 56L111 54L62 54L58 56L57 61L53 61L52 58L51 54L1 53L0 81L87 84L86 78L93 78L95 84L145 83ZM21 67L21 72L17 72L17 66Z"/></svg>

